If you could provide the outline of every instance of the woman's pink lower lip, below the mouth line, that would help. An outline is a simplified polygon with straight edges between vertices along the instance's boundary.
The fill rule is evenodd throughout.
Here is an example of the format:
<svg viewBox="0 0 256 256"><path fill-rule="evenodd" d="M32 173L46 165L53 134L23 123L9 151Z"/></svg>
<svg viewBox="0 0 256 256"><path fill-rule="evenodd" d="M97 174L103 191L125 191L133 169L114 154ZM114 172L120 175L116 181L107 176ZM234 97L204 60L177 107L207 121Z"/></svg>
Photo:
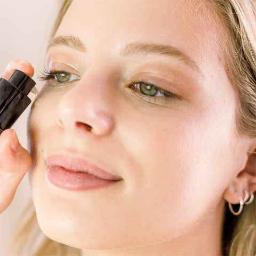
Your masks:
<svg viewBox="0 0 256 256"><path fill-rule="evenodd" d="M56 187L68 190L89 190L114 185L118 180L103 180L84 172L69 171L60 166L48 166L47 179Z"/></svg>

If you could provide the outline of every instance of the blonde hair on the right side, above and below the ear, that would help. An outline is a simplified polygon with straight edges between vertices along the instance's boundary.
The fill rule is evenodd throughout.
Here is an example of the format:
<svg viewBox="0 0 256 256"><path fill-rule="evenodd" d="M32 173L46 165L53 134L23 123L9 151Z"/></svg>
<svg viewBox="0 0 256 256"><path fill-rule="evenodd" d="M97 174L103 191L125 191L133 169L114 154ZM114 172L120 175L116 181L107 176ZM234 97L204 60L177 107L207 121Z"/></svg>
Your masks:
<svg viewBox="0 0 256 256"><path fill-rule="evenodd" d="M222 22L222 57L237 94L236 128L256 138L256 1L207 0ZM250 152L256 154L256 152ZM256 175L256 170L255 170ZM225 255L256 256L256 200L239 217L226 205L222 234Z"/></svg>

